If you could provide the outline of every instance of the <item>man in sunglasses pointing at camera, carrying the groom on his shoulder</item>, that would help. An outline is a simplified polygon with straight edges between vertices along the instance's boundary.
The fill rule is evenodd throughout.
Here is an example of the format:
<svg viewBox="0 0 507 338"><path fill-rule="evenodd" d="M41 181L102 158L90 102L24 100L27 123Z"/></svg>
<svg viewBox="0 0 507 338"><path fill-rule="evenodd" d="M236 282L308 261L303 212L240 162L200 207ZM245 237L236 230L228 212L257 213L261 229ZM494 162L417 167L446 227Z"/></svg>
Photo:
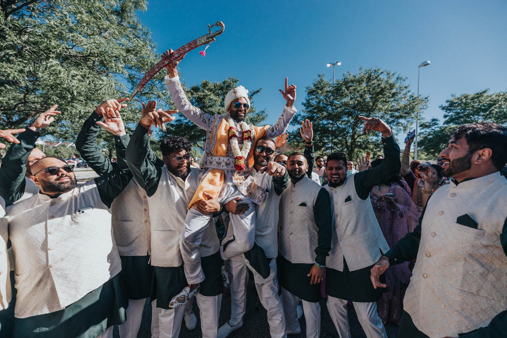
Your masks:
<svg viewBox="0 0 507 338"><path fill-rule="evenodd" d="M239 254L226 261L231 276L231 319L222 325L219 338L227 337L232 331L243 325L246 311L245 281L248 270L253 274L257 293L267 311L271 337L284 337L285 319L283 307L278 295L278 277L276 256L278 255L278 204L280 195L288 185L285 166L273 161L275 142L261 137L254 147L253 167L250 174L256 184L266 190L265 200L256 205L255 244L244 254ZM229 210L229 205L226 205ZM234 210L229 210L234 212ZM229 227L232 232L232 227Z"/></svg>

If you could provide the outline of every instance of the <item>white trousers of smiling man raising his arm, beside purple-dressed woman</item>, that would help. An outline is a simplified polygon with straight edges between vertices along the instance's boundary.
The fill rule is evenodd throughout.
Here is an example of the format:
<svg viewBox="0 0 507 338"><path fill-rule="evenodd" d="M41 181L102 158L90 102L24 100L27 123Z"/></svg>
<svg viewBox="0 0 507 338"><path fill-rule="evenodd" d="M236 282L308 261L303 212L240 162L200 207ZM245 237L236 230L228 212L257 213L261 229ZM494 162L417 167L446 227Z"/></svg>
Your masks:
<svg viewBox="0 0 507 338"><path fill-rule="evenodd" d="M328 295L328 311L340 338L350 338L350 330L347 314L347 303L344 299L331 297ZM368 338L384 337L387 338L382 320L377 314L377 303L352 302L354 305L357 319L363 327ZM305 312L306 315L306 312Z"/></svg>

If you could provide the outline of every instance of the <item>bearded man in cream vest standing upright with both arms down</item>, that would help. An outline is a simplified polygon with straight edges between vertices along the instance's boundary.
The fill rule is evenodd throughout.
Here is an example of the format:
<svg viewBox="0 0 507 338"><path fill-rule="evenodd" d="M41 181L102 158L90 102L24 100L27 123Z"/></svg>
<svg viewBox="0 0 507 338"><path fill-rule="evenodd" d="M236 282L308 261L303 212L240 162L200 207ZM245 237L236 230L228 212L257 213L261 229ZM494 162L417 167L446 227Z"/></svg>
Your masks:
<svg viewBox="0 0 507 338"><path fill-rule="evenodd" d="M306 336L320 334L320 282L331 250L329 193L307 176L301 153L287 159L291 178L280 200L278 279L282 286L287 333L299 333L297 297L302 299Z"/></svg>

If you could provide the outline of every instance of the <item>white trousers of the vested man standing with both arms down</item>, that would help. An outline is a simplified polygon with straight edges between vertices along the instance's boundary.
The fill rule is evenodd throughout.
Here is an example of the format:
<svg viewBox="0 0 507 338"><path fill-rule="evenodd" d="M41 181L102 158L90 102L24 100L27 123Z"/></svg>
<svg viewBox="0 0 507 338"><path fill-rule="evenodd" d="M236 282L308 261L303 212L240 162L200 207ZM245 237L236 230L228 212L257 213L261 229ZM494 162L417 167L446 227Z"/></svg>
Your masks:
<svg viewBox="0 0 507 338"><path fill-rule="evenodd" d="M285 326L288 333L294 333L301 330L298 320L298 297L282 287L283 313L285 315ZM318 302L303 303L303 312L306 321L307 338L318 338L320 336L320 305Z"/></svg>

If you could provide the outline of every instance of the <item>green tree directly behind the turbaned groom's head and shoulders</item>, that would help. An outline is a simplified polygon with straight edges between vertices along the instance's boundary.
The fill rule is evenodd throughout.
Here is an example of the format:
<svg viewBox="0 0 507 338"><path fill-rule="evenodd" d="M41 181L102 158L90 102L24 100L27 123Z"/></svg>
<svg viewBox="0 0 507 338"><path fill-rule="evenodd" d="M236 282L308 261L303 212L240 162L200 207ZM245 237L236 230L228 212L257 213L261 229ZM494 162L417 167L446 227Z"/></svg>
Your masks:
<svg viewBox="0 0 507 338"><path fill-rule="evenodd" d="M189 90L185 90L189 101L200 108L207 114L224 114L224 99L227 92L234 87L238 86L239 80L236 78L229 77L222 82L211 83L208 80L204 80L199 85L192 86ZM253 97L259 94L261 89L253 90L248 92L250 99L250 110L248 111L247 123L253 125L260 125L267 117L265 109L256 110L253 104ZM166 125L167 135L183 136L193 146L199 147L203 150L203 142L206 139L206 132L199 127L196 127L183 115L178 115L174 122ZM160 136L163 136L162 133Z"/></svg>

